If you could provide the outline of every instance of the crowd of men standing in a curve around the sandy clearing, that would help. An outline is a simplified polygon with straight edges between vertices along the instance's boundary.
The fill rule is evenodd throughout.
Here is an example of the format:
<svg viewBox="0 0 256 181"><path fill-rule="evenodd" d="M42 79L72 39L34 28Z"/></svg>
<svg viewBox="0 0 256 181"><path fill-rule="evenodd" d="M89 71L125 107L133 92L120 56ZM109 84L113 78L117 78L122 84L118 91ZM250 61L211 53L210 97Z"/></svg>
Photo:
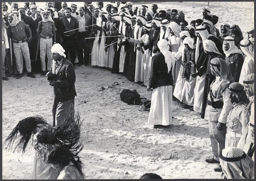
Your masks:
<svg viewBox="0 0 256 181"><path fill-rule="evenodd" d="M81 7L68 7L62 2L61 9L56 9L52 2L46 2L44 9L33 2L24 7L12 3L11 12L7 5L2 7L3 80L11 76L20 79L26 71L27 76L36 78L32 70L46 75L51 71L52 45L59 43L75 69L89 63L106 67L149 90L154 88L150 84L155 79L153 59L162 52L165 61L174 62L167 63L168 72L172 70L173 98L182 102L185 109L199 112L201 118L209 120L214 157L206 162L220 163L223 148L244 148L252 119L247 110L251 110L254 101L254 97L247 97L253 96L250 91L246 91L247 95L244 92L245 85L253 82L254 87L254 78L245 80L254 75L253 30L244 39L238 25L222 22L215 27L219 18L212 15L209 7L202 9L202 19L190 24L182 11L158 11L156 3L134 7L131 2L116 2L115 6L103 7L102 2L97 2L94 7L91 2L84 2ZM167 50L162 46L165 41ZM212 72L211 66L221 67L220 71ZM219 79L226 78L228 87L218 84ZM214 85L222 88L220 93L213 90ZM229 91L225 92L226 88ZM214 95L221 96L221 100ZM220 165L215 169L221 170Z"/></svg>

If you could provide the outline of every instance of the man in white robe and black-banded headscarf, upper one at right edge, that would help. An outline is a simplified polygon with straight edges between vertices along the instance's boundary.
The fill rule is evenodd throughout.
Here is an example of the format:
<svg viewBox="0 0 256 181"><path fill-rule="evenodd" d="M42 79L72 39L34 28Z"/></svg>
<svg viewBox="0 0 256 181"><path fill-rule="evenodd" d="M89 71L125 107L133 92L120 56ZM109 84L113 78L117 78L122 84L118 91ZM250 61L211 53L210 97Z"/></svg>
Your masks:
<svg viewBox="0 0 256 181"><path fill-rule="evenodd" d="M240 41L240 48L245 55L239 78L239 83L243 84L244 78L247 75L254 73L254 52L252 50L252 42L247 39Z"/></svg>

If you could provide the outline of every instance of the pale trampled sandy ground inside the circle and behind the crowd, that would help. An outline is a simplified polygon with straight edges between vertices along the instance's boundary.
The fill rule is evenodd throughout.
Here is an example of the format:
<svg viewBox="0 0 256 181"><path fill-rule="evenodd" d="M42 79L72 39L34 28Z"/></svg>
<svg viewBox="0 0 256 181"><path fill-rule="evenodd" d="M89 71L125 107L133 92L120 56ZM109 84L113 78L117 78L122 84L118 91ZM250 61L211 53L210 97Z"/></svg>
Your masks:
<svg viewBox="0 0 256 181"><path fill-rule="evenodd" d="M159 6L166 4L171 4L171 9L184 10L190 22L188 17L201 17L201 9L207 3L172 2ZM229 17L230 25L238 24L243 32L252 29L253 2L225 4L210 3L212 11L218 12L213 14L223 15L220 23L227 22ZM34 114L42 115L52 124L53 88L45 77L36 76L36 79L24 76L3 82L3 140L22 118ZM98 92L101 86L116 81L119 86ZM146 92L146 87L128 81L121 74L91 66L76 69L75 86L75 109L84 119L81 133L84 150L80 156L88 179L131 179L146 172L165 179L220 178L220 172L213 171L217 164L204 161L212 157L212 148L208 123L199 113L183 108L178 111L178 102L173 102L172 127L153 129L147 124L148 112L140 112L140 106L120 100L124 88L137 89L141 97L151 99L152 93ZM166 155L172 157L165 160ZM6 152L3 146L3 179L30 179L33 160L31 145L24 155Z"/></svg>

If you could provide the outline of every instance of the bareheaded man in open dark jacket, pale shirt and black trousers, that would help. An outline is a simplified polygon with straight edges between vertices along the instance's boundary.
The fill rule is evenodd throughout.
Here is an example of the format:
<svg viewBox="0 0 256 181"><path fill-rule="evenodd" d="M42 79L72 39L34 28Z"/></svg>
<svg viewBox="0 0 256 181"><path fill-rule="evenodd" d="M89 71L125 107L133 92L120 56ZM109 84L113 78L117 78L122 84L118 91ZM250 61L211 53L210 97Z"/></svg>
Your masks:
<svg viewBox="0 0 256 181"><path fill-rule="evenodd" d="M91 17L89 15L84 14L84 7L78 8L79 15L76 16L76 19L78 20L78 26L80 29L78 29L78 35L77 35L77 56L78 56L78 65L81 66L83 63L85 66L89 66L89 40L84 38L89 38L90 32L88 31L88 27L91 25ZM84 28L82 28L84 27ZM84 52L84 53L83 53Z"/></svg>

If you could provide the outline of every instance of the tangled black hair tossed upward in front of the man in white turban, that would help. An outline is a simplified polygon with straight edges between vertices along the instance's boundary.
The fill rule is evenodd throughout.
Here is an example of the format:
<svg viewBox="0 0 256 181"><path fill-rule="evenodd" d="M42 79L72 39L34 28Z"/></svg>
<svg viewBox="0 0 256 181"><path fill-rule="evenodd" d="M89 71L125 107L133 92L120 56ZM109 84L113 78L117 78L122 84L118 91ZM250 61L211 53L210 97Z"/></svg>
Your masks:
<svg viewBox="0 0 256 181"><path fill-rule="evenodd" d="M83 149L79 141L82 121L80 114L68 114L68 117L57 127L47 126L37 134L37 142L42 147L41 154L46 163L68 165L74 164L79 173L82 172L82 162L78 153Z"/></svg>

